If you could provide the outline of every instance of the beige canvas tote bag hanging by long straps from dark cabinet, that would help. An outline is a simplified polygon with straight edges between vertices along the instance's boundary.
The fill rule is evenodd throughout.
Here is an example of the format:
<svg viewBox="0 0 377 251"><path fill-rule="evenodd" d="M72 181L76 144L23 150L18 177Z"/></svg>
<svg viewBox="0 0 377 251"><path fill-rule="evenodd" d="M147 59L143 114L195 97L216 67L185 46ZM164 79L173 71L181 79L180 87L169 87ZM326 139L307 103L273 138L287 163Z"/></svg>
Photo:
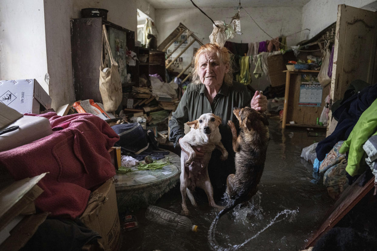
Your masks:
<svg viewBox="0 0 377 251"><path fill-rule="evenodd" d="M122 102L122 82L118 70L118 63L115 62L111 53L109 39L105 25L102 26L102 50L101 50L101 66L100 66L100 93L102 97L104 110L107 112L116 111ZM103 47L106 46L110 57L110 69L103 72L106 65L103 63Z"/></svg>

